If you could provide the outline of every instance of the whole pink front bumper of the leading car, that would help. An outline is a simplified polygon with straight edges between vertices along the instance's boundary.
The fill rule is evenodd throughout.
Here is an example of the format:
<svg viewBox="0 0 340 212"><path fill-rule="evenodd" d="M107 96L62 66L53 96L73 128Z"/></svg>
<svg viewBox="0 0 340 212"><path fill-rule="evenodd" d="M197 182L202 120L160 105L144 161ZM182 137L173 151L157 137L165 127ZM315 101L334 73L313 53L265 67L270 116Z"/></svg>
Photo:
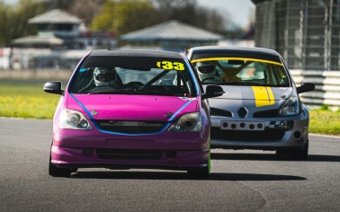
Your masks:
<svg viewBox="0 0 340 212"><path fill-rule="evenodd" d="M67 131L67 130L62 130ZM86 132L85 132L86 133ZM141 137L76 136L55 134L51 163L58 168L150 168L189 170L207 167L209 139L200 133L169 139Z"/></svg>

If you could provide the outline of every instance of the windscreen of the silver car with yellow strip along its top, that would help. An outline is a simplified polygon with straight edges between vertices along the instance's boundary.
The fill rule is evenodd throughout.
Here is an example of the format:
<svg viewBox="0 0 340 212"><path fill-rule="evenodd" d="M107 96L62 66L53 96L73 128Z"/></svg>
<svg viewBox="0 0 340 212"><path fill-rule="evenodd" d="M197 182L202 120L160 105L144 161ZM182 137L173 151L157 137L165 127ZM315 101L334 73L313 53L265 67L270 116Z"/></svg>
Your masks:
<svg viewBox="0 0 340 212"><path fill-rule="evenodd" d="M282 63L262 59L245 58L200 58L192 61L195 71L199 72L199 66L203 66L205 61L213 63L216 68L214 80L202 84L228 84L237 83L244 85L271 85L271 86L290 86L287 72ZM199 73L199 75L202 73ZM200 76L201 76L200 75ZM203 78L203 77L200 77ZM212 78L211 78L212 79Z"/></svg>

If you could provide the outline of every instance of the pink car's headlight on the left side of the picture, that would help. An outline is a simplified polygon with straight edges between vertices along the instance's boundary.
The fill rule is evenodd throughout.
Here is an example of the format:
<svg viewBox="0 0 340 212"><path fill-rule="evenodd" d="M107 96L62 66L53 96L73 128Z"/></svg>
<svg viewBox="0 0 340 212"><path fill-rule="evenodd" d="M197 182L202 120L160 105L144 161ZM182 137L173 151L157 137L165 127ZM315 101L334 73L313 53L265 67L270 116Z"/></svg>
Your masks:
<svg viewBox="0 0 340 212"><path fill-rule="evenodd" d="M92 129L85 115L76 110L65 109L59 116L59 128Z"/></svg>

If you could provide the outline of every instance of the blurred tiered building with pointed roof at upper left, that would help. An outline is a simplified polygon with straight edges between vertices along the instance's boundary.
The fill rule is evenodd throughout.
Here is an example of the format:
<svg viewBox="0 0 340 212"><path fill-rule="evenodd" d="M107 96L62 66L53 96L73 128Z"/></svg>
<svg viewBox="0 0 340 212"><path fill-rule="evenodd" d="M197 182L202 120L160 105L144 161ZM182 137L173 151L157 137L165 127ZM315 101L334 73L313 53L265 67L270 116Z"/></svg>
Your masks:
<svg viewBox="0 0 340 212"><path fill-rule="evenodd" d="M37 25L38 34L13 40L9 68L73 69L88 50L117 45L112 31L89 31L82 20L59 9L35 16L29 23Z"/></svg>

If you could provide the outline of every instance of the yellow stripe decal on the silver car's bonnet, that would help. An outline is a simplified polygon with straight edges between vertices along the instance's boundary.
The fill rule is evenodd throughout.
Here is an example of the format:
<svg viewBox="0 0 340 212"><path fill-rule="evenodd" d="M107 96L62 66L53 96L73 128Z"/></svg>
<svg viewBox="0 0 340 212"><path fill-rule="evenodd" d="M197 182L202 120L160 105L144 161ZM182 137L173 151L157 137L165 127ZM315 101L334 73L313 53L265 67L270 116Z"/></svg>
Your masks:
<svg viewBox="0 0 340 212"><path fill-rule="evenodd" d="M255 96L256 108L274 104L273 91L271 87L266 86L252 86Z"/></svg>

